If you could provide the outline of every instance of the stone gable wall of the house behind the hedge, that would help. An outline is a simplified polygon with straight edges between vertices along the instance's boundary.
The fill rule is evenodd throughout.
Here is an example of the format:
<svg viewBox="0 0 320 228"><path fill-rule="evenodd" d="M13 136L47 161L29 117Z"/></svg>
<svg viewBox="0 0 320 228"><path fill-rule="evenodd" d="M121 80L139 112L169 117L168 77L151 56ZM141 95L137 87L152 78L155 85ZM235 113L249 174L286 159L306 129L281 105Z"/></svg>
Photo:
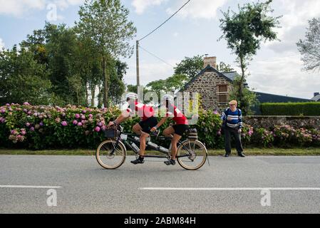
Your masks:
<svg viewBox="0 0 320 228"><path fill-rule="evenodd" d="M202 108L205 110L224 110L228 104L219 105L217 90L219 85L228 85L228 92L232 86L226 78L218 76L215 72L207 71L198 77L193 83L184 90L184 92L200 93Z"/></svg>

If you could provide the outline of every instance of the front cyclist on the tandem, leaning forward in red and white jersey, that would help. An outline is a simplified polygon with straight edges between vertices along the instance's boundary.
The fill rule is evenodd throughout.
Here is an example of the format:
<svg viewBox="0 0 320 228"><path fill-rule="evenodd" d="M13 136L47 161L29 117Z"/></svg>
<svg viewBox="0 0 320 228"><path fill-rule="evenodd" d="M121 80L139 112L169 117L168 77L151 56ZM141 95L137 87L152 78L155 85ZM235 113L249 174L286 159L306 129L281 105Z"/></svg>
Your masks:
<svg viewBox="0 0 320 228"><path fill-rule="evenodd" d="M138 102L138 94L128 93L128 95L126 95L126 100L129 103L129 108L127 108L115 121L110 122L108 126L120 124L138 113L141 121L133 126L133 132L140 135L140 156L131 163L135 165L143 164L146 147L145 141L150 136L151 128L157 125L158 119L154 116L155 111L153 110L153 107Z"/></svg>

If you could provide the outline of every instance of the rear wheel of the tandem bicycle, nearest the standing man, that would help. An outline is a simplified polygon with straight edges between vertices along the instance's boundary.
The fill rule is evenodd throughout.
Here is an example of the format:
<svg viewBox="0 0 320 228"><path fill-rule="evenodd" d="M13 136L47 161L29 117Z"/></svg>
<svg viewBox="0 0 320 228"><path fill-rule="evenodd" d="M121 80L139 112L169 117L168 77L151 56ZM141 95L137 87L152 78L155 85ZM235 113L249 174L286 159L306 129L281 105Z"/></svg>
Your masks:
<svg viewBox="0 0 320 228"><path fill-rule="evenodd" d="M177 148L177 162L186 170L198 170L206 160L207 148L200 141L185 140Z"/></svg>

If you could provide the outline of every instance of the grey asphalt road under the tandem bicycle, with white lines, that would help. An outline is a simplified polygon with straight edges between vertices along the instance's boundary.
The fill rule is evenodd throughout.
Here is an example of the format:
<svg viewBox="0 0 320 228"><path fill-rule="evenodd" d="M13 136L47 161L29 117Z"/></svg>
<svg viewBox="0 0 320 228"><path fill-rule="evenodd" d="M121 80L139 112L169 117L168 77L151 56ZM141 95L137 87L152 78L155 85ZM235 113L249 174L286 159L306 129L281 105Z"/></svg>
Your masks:
<svg viewBox="0 0 320 228"><path fill-rule="evenodd" d="M103 170L95 157L0 155L0 213L320 213L320 157L210 157L197 171L132 159Z"/></svg>

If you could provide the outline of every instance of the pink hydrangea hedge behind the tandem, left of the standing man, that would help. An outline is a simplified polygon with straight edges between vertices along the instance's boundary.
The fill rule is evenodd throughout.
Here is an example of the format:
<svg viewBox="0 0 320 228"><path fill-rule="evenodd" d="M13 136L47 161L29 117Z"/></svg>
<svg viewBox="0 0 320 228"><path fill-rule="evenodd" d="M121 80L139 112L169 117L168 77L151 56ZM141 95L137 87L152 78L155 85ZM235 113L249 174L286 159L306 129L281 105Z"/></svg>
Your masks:
<svg viewBox="0 0 320 228"><path fill-rule="evenodd" d="M0 147L29 148L32 150L96 147L105 140L103 130L110 120L120 114L117 108L85 108L82 106L32 106L6 104L0 107ZM160 120L160 118L159 118ZM123 123L125 133L140 118ZM170 122L162 125L164 130ZM200 140L207 147L222 147L221 120L218 113L200 111L197 128ZM159 142L167 145L170 142ZM165 144L163 144L165 143Z"/></svg>

